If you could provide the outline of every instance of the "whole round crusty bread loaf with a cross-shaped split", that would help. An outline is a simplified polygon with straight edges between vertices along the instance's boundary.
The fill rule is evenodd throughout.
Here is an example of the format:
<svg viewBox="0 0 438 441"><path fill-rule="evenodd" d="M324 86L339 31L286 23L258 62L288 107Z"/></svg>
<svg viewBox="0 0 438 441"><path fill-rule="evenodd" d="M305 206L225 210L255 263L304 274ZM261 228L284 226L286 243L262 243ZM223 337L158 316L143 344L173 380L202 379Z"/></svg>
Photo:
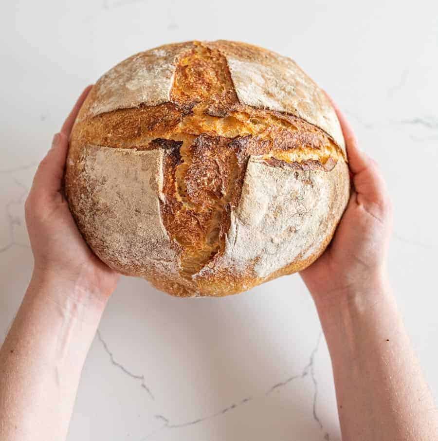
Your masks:
<svg viewBox="0 0 438 441"><path fill-rule="evenodd" d="M190 41L104 74L76 119L66 195L94 253L184 297L300 271L349 198L342 131L290 59Z"/></svg>

